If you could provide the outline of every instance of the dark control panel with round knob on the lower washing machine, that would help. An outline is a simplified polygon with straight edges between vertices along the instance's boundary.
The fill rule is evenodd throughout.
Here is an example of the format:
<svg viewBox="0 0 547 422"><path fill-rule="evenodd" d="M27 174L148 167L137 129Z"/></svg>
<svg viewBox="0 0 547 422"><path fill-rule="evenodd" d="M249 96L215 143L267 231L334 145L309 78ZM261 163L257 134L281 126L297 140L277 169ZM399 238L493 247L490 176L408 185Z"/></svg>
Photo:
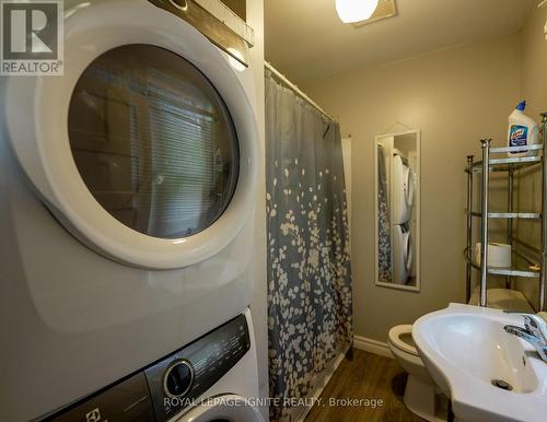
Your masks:
<svg viewBox="0 0 547 422"><path fill-rule="evenodd" d="M163 422L199 403L199 396L251 348L244 315L121 382L45 418L47 421ZM226 391L231 392L231 391Z"/></svg>

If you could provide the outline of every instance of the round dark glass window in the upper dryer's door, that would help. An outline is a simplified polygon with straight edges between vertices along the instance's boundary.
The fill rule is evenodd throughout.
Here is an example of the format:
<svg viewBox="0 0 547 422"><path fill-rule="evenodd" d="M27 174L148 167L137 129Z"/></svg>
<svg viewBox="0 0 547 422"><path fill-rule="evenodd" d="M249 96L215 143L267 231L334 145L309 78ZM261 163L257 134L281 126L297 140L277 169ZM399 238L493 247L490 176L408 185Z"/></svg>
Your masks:
<svg viewBox="0 0 547 422"><path fill-rule="evenodd" d="M185 238L232 200L240 151L230 113L172 51L132 44L101 55L75 85L68 125L85 186L129 228Z"/></svg>

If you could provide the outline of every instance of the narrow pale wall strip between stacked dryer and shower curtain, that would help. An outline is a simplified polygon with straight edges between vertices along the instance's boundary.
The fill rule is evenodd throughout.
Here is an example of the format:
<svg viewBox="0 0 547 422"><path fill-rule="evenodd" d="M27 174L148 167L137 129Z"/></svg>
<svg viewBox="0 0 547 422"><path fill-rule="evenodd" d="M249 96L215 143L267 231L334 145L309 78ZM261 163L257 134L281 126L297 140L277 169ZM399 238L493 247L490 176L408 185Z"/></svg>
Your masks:
<svg viewBox="0 0 547 422"><path fill-rule="evenodd" d="M258 382L260 397L268 397L268 331L267 331L267 303L266 303L266 173L265 160L265 99L264 99L264 0L247 1L247 23L255 31L255 46L251 49L251 68L255 73L256 114L259 131L263 174L258 181L256 198L256 227L255 227L255 256L254 262L254 295L251 304L253 325L258 353ZM268 409L263 413L268 420Z"/></svg>

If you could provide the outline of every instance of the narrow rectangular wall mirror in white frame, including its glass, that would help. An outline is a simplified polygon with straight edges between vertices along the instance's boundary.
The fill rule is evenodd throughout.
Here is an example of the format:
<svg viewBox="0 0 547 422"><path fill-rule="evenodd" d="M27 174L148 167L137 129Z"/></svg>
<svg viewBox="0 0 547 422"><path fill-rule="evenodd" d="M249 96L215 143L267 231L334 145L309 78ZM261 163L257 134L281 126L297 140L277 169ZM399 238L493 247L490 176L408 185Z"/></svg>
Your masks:
<svg viewBox="0 0 547 422"><path fill-rule="evenodd" d="M376 285L420 291L420 132L374 142Z"/></svg>

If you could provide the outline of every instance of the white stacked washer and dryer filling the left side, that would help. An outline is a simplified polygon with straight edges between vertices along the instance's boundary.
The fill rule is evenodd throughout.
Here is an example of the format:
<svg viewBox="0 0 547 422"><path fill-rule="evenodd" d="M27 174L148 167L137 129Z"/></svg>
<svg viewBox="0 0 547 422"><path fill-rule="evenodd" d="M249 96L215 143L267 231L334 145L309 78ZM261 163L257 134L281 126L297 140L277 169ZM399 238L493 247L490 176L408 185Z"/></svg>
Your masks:
<svg viewBox="0 0 547 422"><path fill-rule="evenodd" d="M65 75L2 79L2 421L263 420L254 81L181 3L67 1Z"/></svg>

